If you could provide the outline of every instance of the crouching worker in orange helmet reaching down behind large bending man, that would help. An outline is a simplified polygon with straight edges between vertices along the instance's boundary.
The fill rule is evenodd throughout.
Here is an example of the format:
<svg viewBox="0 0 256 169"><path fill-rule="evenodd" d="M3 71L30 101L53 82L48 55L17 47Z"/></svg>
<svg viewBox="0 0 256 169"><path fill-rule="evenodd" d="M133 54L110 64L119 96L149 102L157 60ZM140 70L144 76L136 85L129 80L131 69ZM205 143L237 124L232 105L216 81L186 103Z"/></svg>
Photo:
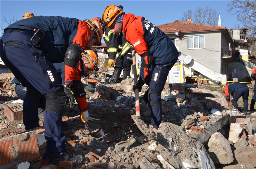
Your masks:
<svg viewBox="0 0 256 169"><path fill-rule="evenodd" d="M70 67L68 65L63 65L65 72L65 89L68 90L67 93L75 96L76 102L81 110L81 120L87 123L90 119L88 113L88 104L86 101L86 93L84 91L84 85L81 81L81 77L84 75L89 75L91 71L98 71L98 55L97 52L92 50L85 50L82 53L80 59L80 64L78 68ZM73 107L75 100L70 100L70 107Z"/></svg>

